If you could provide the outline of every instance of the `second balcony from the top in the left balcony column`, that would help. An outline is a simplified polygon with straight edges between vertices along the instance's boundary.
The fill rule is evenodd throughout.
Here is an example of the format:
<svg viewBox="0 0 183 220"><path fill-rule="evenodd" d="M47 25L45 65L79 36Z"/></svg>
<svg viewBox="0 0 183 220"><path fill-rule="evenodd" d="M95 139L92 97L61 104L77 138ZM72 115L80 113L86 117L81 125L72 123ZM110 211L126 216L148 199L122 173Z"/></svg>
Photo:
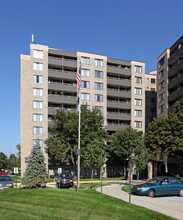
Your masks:
<svg viewBox="0 0 183 220"><path fill-rule="evenodd" d="M48 70L48 77L56 78L56 79L71 79L76 80L76 72L74 71L66 71L66 70Z"/></svg>

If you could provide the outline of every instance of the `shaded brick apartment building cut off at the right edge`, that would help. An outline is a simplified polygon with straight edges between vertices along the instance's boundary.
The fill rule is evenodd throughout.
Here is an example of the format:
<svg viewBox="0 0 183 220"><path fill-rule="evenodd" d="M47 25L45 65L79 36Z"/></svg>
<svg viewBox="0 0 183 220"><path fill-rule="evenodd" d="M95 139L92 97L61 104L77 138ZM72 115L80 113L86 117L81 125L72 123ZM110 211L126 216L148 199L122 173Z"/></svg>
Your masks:
<svg viewBox="0 0 183 220"><path fill-rule="evenodd" d="M183 97L183 36L157 58L157 115L167 117Z"/></svg>

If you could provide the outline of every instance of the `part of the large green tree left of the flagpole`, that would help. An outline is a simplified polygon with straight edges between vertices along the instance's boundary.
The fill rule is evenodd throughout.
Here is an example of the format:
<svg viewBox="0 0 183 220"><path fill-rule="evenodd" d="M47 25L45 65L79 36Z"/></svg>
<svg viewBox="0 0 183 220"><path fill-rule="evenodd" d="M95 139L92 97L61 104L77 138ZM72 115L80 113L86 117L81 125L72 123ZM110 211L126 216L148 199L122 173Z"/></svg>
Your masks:
<svg viewBox="0 0 183 220"><path fill-rule="evenodd" d="M71 157L72 164L76 165L76 149L78 146L78 115L77 113L58 110L54 123L49 127L51 137L45 143L48 146L49 155L54 161Z"/></svg>

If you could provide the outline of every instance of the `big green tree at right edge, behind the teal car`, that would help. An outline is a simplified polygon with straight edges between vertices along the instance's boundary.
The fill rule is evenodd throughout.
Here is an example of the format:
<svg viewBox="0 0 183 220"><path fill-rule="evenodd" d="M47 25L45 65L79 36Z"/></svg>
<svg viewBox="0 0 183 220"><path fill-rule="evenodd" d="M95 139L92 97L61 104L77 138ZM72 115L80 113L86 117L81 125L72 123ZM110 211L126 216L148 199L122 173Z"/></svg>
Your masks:
<svg viewBox="0 0 183 220"><path fill-rule="evenodd" d="M175 103L167 118L154 118L148 126L145 144L154 156L152 159L163 153L178 163L177 159L183 156L183 99ZM168 172L167 164L165 172Z"/></svg>

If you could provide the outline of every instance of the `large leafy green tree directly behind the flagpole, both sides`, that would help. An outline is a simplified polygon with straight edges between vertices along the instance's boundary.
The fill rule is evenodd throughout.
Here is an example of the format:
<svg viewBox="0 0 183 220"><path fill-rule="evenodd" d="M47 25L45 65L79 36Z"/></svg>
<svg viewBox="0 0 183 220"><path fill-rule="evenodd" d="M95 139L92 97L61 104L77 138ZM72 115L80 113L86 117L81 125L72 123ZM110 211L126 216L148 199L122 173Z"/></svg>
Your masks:
<svg viewBox="0 0 183 220"><path fill-rule="evenodd" d="M102 114L95 109L91 111L86 105L81 106L81 157L85 148L95 139L105 140L107 132L104 128ZM78 113L57 111L54 123L49 128L51 137L45 143L48 146L50 157L55 161L66 159L69 155L72 164L76 167L78 148Z"/></svg>

